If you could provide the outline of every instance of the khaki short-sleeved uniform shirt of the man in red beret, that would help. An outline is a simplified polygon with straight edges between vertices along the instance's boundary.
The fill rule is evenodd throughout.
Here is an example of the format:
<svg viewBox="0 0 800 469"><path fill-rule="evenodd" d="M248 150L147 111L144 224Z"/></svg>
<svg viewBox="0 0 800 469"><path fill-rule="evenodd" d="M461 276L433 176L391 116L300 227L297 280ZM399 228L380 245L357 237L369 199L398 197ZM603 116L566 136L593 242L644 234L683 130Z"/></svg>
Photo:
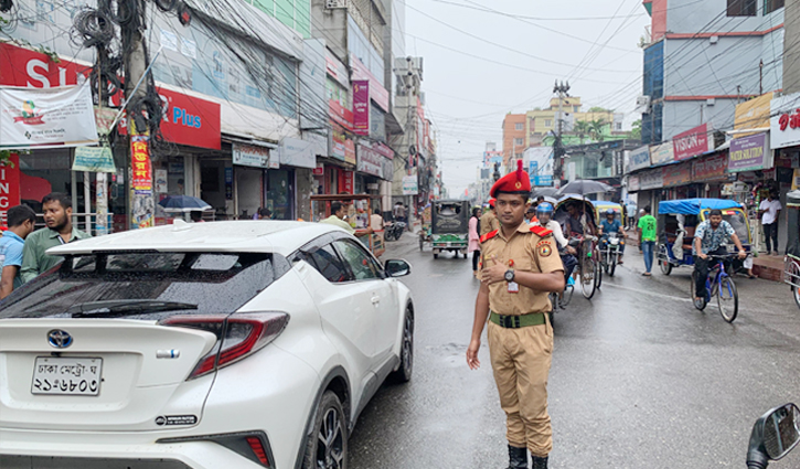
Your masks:
<svg viewBox="0 0 800 469"><path fill-rule="evenodd" d="M490 266L492 256L495 256L498 263L504 266L510 266L513 260L511 268L518 271L548 274L564 270L553 235L538 236L531 232L531 225L527 223L521 224L510 239L503 236L501 230L481 244L481 253L484 266ZM519 286L519 292L510 292L506 281L490 285L489 309L504 316L521 316L551 310L547 291L536 291L522 285Z"/></svg>

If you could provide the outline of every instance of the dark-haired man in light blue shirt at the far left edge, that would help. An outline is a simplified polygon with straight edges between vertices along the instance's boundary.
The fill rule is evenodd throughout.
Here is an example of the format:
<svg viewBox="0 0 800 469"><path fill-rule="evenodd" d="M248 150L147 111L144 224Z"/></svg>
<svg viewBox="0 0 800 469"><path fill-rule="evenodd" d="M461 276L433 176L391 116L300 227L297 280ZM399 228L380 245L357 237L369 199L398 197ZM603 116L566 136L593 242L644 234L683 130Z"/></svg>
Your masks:
<svg viewBox="0 0 800 469"><path fill-rule="evenodd" d="M20 268L22 267L22 252L25 238L33 233L36 225L36 213L28 205L17 205L9 209L9 228L0 237L0 299L11 295L15 288L22 286Z"/></svg>

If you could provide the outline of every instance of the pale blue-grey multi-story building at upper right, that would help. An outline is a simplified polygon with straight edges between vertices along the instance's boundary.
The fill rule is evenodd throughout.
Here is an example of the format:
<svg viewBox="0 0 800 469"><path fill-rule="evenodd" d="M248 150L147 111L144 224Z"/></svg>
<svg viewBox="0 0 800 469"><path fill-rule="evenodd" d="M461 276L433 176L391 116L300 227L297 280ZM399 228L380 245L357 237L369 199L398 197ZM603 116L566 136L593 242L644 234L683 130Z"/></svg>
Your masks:
<svg viewBox="0 0 800 469"><path fill-rule="evenodd" d="M782 87L783 0L646 0L642 141L734 125L737 103ZM646 98L647 99L647 98Z"/></svg>

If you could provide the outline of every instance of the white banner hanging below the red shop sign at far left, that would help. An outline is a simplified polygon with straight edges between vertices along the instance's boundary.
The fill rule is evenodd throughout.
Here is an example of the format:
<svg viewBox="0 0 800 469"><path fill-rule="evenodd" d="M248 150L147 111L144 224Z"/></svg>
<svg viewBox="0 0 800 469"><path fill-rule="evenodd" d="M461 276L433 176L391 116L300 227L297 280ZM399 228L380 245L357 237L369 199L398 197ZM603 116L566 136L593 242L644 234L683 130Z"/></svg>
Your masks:
<svg viewBox="0 0 800 469"><path fill-rule="evenodd" d="M0 88L0 148L63 148L97 141L88 82L62 88Z"/></svg>

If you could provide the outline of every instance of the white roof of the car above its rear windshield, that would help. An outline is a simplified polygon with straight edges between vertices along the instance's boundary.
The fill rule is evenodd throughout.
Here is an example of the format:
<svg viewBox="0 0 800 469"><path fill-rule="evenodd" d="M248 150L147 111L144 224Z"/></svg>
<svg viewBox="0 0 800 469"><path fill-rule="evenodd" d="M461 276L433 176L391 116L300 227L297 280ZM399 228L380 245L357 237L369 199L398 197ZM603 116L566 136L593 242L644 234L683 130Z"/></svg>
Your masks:
<svg viewBox="0 0 800 469"><path fill-rule="evenodd" d="M323 223L232 221L185 223L131 230L67 243L47 254L90 254L103 251L276 253L288 256L312 239L344 230Z"/></svg>

